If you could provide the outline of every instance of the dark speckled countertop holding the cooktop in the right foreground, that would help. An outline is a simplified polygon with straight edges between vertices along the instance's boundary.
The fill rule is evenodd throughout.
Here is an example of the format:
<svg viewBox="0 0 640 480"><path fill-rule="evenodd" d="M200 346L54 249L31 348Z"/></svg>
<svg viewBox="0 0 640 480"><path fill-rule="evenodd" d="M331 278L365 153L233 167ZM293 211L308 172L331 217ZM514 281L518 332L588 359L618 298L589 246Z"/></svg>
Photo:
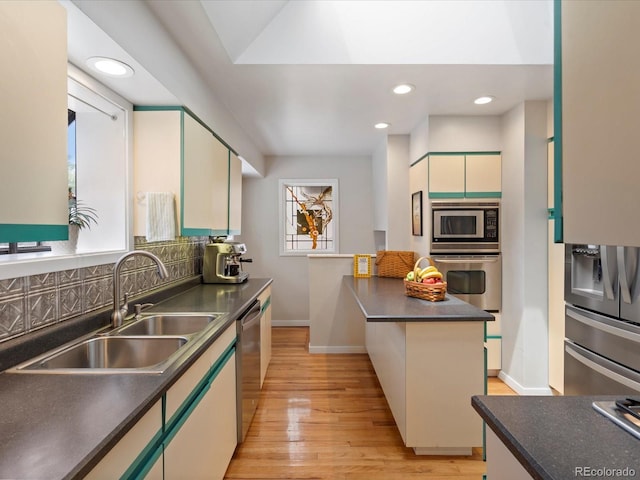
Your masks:
<svg viewBox="0 0 640 480"><path fill-rule="evenodd" d="M618 478L640 478L640 440L592 407L594 401L616 398L477 396L471 404L535 479L577 478L580 467L629 467L635 476Z"/></svg>

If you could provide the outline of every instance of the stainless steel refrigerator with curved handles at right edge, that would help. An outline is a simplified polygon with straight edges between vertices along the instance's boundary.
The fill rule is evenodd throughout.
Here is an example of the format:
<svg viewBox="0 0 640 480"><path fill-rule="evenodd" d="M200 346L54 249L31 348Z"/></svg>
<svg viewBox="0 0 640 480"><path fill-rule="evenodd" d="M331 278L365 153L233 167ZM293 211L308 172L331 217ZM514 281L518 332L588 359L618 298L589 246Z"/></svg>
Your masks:
<svg viewBox="0 0 640 480"><path fill-rule="evenodd" d="M638 252L565 246L565 395L640 393Z"/></svg>

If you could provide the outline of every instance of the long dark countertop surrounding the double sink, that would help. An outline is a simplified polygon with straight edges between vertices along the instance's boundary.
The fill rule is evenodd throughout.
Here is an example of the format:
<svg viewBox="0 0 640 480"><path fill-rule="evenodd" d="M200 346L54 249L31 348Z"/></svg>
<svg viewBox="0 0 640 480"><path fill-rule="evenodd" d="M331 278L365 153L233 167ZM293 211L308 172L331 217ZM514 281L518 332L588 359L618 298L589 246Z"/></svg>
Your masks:
<svg viewBox="0 0 640 480"><path fill-rule="evenodd" d="M162 374L1 373L0 478L85 476L270 283L199 284L149 309L229 313L217 333Z"/></svg>

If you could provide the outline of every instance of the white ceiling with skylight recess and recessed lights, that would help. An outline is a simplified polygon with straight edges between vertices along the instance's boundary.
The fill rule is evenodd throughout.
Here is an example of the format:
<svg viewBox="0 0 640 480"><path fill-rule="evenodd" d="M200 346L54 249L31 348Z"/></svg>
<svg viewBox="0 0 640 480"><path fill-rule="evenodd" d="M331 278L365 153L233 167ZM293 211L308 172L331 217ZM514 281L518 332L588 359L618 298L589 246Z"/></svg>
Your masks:
<svg viewBox="0 0 640 480"><path fill-rule="evenodd" d="M430 115L500 115L553 94L552 0L127 1L161 23L263 155L369 155L386 134L380 121L408 134ZM125 22L101 22L125 2L62 3L75 11L69 55L80 68L126 36ZM140 40L129 52L111 41L140 75L101 80L134 104L175 103L170 82L146 70L164 80L158 68L175 65L160 48L140 64ZM400 82L416 90L393 95ZM476 106L480 95L496 101Z"/></svg>

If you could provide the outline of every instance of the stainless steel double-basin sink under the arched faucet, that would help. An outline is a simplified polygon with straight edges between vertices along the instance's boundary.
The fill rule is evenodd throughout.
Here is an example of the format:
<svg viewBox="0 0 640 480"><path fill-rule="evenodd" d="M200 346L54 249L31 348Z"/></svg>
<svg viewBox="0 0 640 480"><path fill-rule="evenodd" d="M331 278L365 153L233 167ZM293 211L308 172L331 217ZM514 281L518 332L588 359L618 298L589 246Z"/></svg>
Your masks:
<svg viewBox="0 0 640 480"><path fill-rule="evenodd" d="M162 373L225 314L139 316L24 362L12 373Z"/></svg>

